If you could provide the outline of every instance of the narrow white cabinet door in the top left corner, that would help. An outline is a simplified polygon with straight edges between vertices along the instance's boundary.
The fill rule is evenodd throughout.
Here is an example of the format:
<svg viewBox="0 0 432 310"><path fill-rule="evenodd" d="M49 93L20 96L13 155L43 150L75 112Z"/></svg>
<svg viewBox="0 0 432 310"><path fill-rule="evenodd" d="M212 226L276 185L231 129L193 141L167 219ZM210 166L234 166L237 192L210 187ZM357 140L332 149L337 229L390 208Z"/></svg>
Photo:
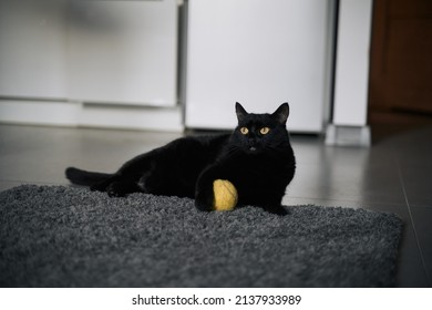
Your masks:
<svg viewBox="0 0 432 310"><path fill-rule="evenodd" d="M66 1L0 1L0 96L66 99Z"/></svg>

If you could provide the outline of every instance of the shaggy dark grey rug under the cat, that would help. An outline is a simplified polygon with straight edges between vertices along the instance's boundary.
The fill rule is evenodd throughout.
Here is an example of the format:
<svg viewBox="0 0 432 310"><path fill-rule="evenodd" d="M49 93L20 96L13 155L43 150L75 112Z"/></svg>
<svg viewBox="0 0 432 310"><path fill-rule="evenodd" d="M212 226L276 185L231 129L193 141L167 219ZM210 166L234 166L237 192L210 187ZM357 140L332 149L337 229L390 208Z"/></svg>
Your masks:
<svg viewBox="0 0 432 310"><path fill-rule="evenodd" d="M0 286L394 285L399 217L287 208L207 214L186 198L23 185L0 193Z"/></svg>

